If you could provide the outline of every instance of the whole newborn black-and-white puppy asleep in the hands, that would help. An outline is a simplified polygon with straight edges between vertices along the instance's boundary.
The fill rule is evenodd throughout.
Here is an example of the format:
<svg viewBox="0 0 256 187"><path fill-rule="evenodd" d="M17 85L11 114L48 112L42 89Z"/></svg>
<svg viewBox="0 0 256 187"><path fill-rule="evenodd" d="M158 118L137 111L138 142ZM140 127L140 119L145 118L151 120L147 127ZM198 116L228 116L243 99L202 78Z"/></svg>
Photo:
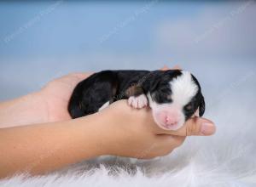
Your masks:
<svg viewBox="0 0 256 187"><path fill-rule="evenodd" d="M74 88L68 111L73 118L101 111L114 101L128 99L134 108L149 106L154 121L177 130L205 101L196 78L188 71L101 71Z"/></svg>

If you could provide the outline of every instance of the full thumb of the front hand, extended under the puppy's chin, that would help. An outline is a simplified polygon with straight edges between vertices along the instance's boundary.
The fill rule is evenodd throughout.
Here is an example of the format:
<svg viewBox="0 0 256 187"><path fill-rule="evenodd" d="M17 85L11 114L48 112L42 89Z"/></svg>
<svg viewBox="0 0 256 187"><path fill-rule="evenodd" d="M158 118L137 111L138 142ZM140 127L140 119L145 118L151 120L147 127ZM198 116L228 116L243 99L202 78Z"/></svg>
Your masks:
<svg viewBox="0 0 256 187"><path fill-rule="evenodd" d="M190 118L183 127L177 131L160 130L159 133L166 133L177 136L209 136L215 133L216 127L213 122L202 117ZM158 134L159 134L158 133Z"/></svg>

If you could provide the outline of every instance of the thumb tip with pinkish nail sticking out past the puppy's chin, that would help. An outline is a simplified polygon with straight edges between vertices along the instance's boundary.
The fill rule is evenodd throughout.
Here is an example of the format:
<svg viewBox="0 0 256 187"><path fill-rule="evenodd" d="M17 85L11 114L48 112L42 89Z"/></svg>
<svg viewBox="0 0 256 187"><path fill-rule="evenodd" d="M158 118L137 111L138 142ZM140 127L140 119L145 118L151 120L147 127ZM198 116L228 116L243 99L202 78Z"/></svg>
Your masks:
<svg viewBox="0 0 256 187"><path fill-rule="evenodd" d="M213 122L196 116L185 122L184 128L187 136L208 136L212 135L216 131L216 127Z"/></svg>

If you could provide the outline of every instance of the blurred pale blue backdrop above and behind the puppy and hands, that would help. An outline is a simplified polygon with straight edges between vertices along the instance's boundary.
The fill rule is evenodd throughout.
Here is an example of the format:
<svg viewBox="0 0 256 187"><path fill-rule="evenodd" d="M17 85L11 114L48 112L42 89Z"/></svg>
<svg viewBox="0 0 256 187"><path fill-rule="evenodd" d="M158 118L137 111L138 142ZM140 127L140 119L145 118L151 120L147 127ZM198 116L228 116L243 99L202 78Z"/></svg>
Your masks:
<svg viewBox="0 0 256 187"><path fill-rule="evenodd" d="M178 64L207 105L256 103L255 19L253 0L3 1L0 100L70 72Z"/></svg>

